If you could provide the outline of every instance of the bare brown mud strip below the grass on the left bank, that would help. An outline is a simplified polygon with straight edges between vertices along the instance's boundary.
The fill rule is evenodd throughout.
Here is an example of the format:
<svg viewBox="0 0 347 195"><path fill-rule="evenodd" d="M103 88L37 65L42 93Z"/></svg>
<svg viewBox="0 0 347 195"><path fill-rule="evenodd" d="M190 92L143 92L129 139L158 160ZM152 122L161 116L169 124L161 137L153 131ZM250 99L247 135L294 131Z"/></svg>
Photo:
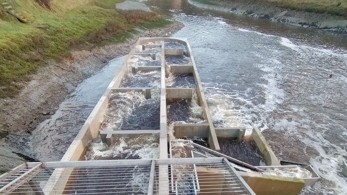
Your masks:
<svg viewBox="0 0 347 195"><path fill-rule="evenodd" d="M48 61L30 77L30 82L23 84L16 98L0 99L0 173L35 160L25 149L31 131L50 118L79 83L100 71L109 60L129 53L138 37L168 37L183 26L173 22L161 29L136 29L139 33L125 43L71 51L71 56L61 62Z"/></svg>

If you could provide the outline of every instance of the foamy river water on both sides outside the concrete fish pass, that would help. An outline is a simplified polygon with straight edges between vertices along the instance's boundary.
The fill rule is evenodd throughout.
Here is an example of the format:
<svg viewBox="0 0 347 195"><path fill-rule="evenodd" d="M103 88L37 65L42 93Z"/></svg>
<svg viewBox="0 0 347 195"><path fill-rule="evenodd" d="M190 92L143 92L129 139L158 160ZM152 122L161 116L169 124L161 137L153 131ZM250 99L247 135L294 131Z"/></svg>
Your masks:
<svg viewBox="0 0 347 195"><path fill-rule="evenodd" d="M248 134L258 127L280 159L310 163L322 180L302 194L347 192L346 34L204 10L186 0L146 3L185 24L173 37L188 39L216 127L244 126ZM39 125L30 146L40 160L59 160L123 60L83 82Z"/></svg>

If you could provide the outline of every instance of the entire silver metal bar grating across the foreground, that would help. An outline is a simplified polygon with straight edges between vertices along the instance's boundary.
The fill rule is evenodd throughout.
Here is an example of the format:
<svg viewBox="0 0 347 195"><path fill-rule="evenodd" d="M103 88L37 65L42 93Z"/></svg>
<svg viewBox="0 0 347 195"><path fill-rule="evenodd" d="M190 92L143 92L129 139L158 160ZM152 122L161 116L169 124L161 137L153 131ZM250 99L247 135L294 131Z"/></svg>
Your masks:
<svg viewBox="0 0 347 195"><path fill-rule="evenodd" d="M225 158L26 163L0 176L0 194L254 195Z"/></svg>

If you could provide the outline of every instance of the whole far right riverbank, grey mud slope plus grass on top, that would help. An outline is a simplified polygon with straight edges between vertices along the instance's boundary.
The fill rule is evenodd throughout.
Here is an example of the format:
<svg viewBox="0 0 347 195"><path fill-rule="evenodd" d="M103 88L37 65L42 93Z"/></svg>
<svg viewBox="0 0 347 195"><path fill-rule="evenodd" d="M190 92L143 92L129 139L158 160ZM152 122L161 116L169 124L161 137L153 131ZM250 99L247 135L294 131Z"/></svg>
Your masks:
<svg viewBox="0 0 347 195"><path fill-rule="evenodd" d="M336 2L333 5L322 6L319 2L306 2L300 6L299 3L282 0L188 0L189 3L202 7L221 11L227 11L239 15L267 19L276 22L307 27L326 29L341 33L347 33L347 13L344 7L347 2ZM335 2L335 1L334 1ZM334 3L331 2L331 3ZM311 7L308 4L311 3ZM341 7L341 8L340 8Z"/></svg>

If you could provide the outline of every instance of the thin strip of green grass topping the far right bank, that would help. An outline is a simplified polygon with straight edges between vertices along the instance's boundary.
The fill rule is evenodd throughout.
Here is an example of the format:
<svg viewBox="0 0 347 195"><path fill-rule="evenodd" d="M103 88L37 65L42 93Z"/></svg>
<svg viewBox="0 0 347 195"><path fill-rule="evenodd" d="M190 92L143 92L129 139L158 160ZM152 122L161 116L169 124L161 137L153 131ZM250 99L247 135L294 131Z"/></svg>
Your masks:
<svg viewBox="0 0 347 195"><path fill-rule="evenodd" d="M194 0L196 2L216 5L218 2L227 2L232 5L232 1L240 0ZM347 0L243 0L245 3L272 3L275 6L296 9L315 13L330 13L347 17Z"/></svg>

